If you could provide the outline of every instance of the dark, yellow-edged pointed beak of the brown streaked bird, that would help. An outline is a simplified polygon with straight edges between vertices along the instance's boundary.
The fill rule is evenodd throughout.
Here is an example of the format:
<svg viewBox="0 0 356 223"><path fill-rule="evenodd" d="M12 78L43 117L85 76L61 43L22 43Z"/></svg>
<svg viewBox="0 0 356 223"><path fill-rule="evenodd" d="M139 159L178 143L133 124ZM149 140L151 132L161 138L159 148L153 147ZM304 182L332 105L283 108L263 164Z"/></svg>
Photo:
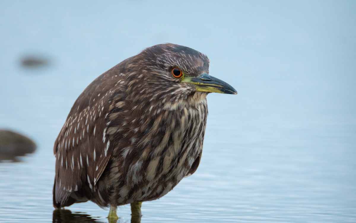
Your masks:
<svg viewBox="0 0 356 223"><path fill-rule="evenodd" d="M203 73L199 76L185 76L182 82L194 84L197 87L197 91L204 92L216 92L223 94L232 94L236 95L237 91L230 84L227 84L225 81L222 81L218 78L214 78L209 74Z"/></svg>

